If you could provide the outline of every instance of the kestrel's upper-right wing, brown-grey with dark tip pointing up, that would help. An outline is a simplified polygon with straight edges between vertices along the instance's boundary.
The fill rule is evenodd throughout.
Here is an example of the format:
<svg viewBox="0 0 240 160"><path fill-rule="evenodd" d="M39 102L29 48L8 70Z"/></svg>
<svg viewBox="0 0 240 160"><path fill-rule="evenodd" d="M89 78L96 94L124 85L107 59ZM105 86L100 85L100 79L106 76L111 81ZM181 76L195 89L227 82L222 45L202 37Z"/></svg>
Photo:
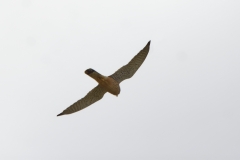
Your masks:
<svg viewBox="0 0 240 160"><path fill-rule="evenodd" d="M121 83L125 79L131 78L146 59L149 52L150 42L151 41L149 41L147 45L136 56L134 56L128 64L118 69L110 77L115 79L118 83Z"/></svg>

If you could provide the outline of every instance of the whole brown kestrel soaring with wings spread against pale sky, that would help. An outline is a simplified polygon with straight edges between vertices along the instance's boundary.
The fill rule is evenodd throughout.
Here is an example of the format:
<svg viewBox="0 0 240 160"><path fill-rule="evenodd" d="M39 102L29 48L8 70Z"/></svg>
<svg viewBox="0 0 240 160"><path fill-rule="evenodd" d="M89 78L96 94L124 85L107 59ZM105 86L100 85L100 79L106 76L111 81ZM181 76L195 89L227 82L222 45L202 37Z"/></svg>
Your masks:
<svg viewBox="0 0 240 160"><path fill-rule="evenodd" d="M90 106L91 104L97 102L98 100L102 99L103 95L106 92L118 96L118 94L120 93L119 84L123 80L131 78L136 73L138 68L142 65L142 63L144 62L148 55L150 42L151 41L149 41L147 45L136 56L134 56L133 59L128 64L121 67L110 76L103 76L91 68L87 69L85 73L88 76L95 79L98 82L98 85L95 88L93 88L90 92L88 92L88 94L85 97L72 104L70 107L65 109L62 113L58 114L57 116L71 114L80 111Z"/></svg>

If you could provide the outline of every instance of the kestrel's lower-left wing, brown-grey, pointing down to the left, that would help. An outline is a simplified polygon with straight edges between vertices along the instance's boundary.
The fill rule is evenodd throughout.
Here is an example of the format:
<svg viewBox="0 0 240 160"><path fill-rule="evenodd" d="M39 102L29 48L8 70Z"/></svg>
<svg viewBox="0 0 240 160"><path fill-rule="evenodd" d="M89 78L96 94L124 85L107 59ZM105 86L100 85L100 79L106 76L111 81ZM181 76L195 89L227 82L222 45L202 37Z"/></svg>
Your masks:
<svg viewBox="0 0 240 160"><path fill-rule="evenodd" d="M65 109L62 113L58 114L57 116L61 116L64 114L71 114L71 113L80 111L90 106L91 104L97 102L98 100L102 99L105 93L106 93L106 90L100 85L98 85L95 88L93 88L90 92L88 92L88 94L84 98L73 103L70 107Z"/></svg>

